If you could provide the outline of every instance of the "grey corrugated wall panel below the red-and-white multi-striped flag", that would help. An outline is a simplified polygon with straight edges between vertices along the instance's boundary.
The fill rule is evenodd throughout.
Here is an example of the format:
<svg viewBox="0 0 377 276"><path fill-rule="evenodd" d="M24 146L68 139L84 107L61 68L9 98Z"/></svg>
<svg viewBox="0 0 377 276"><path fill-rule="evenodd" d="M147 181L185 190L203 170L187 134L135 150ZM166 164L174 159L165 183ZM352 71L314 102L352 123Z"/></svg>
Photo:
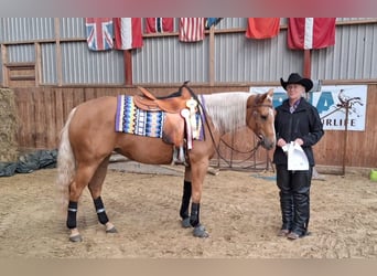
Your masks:
<svg viewBox="0 0 377 276"><path fill-rule="evenodd" d="M133 83L208 82L208 40L183 43L176 36L149 38L133 53Z"/></svg>

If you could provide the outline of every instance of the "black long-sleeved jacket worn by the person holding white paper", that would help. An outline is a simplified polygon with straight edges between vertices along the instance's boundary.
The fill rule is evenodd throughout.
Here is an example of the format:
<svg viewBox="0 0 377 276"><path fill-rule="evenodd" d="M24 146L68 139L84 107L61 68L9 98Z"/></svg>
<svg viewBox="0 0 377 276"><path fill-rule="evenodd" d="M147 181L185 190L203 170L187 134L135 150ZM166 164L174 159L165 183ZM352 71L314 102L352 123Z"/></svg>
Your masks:
<svg viewBox="0 0 377 276"><path fill-rule="evenodd" d="M283 138L289 144L297 138L301 138L304 142L301 147L306 153L309 164L314 166L312 146L324 135L316 108L301 97L300 104L293 114L289 110L289 99L286 99L276 110L274 129L277 141L279 138ZM276 164L288 164L287 155L278 146L273 152L273 162Z"/></svg>

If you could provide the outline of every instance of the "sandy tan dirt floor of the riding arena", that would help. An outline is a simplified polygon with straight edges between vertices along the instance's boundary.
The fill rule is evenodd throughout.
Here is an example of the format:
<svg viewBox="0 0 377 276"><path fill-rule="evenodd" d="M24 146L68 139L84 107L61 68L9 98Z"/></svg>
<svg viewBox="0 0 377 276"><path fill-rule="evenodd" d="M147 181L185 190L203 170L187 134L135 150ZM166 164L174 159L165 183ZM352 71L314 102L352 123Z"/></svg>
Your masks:
<svg viewBox="0 0 377 276"><path fill-rule="evenodd" d="M181 227L181 171L147 170L118 168L106 178L103 199L117 234L106 234L98 224L85 191L80 243L68 241L65 214L56 203L56 169L0 178L0 258L377 257L377 182L365 173L314 180L312 234L292 242L277 236L281 219L273 172L208 173L201 220L209 237L197 238Z"/></svg>

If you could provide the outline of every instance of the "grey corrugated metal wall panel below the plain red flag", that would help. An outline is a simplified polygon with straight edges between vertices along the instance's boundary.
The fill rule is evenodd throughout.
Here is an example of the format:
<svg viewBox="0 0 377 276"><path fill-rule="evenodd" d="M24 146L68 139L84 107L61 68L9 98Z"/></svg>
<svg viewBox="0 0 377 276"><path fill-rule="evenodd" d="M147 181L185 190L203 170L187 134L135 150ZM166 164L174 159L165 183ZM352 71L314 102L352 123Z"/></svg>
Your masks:
<svg viewBox="0 0 377 276"><path fill-rule="evenodd" d="M284 73L302 72L302 52L288 51L284 35L249 40L244 33L215 38L216 82L276 82Z"/></svg>

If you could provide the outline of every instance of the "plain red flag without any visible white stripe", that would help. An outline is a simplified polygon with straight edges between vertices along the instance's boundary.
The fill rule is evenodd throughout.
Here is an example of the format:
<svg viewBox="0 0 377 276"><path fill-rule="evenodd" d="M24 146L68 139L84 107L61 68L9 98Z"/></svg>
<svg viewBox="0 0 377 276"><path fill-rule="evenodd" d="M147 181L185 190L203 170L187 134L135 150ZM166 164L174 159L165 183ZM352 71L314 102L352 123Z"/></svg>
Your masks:
<svg viewBox="0 0 377 276"><path fill-rule="evenodd" d="M249 18L245 36L248 39L271 39L279 34L280 18Z"/></svg>

